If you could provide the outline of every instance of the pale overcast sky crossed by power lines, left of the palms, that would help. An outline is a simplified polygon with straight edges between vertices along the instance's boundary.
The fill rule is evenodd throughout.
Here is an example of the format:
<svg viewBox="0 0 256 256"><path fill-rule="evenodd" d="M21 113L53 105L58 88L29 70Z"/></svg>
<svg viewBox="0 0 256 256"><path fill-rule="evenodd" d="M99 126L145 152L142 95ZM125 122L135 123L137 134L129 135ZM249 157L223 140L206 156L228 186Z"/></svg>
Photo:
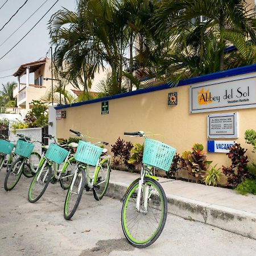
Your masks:
<svg viewBox="0 0 256 256"><path fill-rule="evenodd" d="M26 0L8 0L6 2L6 0L0 0L0 7L6 2L2 9L0 9L0 30L25 1ZM26 5L24 5L13 19L11 19L11 21L0 31L0 45L45 1L46 0L28 0ZM55 2L56 0L48 0L44 3L44 5L22 27L20 27L10 39L0 46L0 58L16 44L44 14L46 14ZM46 56L50 47L47 29L48 20L52 14L63 9L63 7L68 10L75 10L76 0L59 0L30 34L0 60L0 89L2 88L2 84L6 84L6 82L17 81L14 76L6 78L2 77L13 75L18 67L24 63L36 61L41 57ZM26 76L23 76L20 81L25 82Z"/></svg>

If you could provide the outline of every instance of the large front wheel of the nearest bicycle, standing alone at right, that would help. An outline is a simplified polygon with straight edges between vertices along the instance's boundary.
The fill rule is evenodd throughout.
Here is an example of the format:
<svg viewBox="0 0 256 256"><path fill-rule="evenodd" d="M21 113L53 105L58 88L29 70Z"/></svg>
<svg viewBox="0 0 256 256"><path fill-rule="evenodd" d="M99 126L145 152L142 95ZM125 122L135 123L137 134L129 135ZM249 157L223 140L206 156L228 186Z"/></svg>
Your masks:
<svg viewBox="0 0 256 256"><path fill-rule="evenodd" d="M163 231L167 218L167 199L158 181L146 177L137 210L139 181L127 192L122 207L122 229L131 245L147 247Z"/></svg>

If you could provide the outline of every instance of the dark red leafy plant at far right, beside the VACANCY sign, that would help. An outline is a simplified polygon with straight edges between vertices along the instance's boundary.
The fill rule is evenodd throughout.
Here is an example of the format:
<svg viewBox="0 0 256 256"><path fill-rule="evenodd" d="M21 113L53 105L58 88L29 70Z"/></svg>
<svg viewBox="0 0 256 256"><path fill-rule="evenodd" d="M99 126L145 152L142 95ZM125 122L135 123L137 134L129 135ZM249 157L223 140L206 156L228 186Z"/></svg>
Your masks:
<svg viewBox="0 0 256 256"><path fill-rule="evenodd" d="M226 153L232 162L230 167L222 166L222 172L228 177L226 185L236 188L246 177L250 176L246 151L247 149L245 150L240 144L235 143Z"/></svg>

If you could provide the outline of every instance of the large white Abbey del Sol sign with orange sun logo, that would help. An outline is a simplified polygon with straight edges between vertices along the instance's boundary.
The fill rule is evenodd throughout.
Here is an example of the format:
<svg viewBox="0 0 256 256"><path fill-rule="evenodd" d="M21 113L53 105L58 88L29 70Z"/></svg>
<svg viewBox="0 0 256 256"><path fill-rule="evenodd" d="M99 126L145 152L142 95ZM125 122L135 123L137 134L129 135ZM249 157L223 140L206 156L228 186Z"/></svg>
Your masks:
<svg viewBox="0 0 256 256"><path fill-rule="evenodd" d="M189 112L256 108L256 77L201 83L189 88Z"/></svg>

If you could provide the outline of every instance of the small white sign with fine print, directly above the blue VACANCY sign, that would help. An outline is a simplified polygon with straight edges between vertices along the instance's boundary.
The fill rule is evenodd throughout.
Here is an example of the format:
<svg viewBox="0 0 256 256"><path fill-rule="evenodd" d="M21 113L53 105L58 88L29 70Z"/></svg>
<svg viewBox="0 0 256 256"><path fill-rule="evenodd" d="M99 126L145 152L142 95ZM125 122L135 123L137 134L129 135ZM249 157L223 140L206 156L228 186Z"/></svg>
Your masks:
<svg viewBox="0 0 256 256"><path fill-rule="evenodd" d="M207 116L208 138L238 138L237 113L211 114Z"/></svg>

